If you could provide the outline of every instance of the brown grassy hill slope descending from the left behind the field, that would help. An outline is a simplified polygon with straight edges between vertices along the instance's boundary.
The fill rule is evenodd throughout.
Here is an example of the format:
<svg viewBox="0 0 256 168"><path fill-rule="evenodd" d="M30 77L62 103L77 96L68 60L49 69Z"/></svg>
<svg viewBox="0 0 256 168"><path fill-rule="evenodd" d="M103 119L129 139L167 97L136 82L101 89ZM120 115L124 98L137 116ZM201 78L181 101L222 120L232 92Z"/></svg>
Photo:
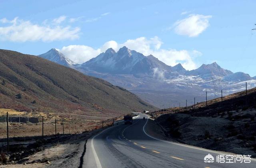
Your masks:
<svg viewBox="0 0 256 168"><path fill-rule="evenodd" d="M0 108L122 114L151 109L136 95L102 79L33 55L0 50ZM16 95L22 94L22 99ZM32 101L36 103L31 103Z"/></svg>

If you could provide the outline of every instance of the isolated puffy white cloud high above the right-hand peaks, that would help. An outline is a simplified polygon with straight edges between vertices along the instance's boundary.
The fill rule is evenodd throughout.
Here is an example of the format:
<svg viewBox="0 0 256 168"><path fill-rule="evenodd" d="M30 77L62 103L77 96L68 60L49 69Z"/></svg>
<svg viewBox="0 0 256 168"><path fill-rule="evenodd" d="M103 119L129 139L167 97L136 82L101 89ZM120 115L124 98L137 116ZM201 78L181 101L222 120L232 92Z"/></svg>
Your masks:
<svg viewBox="0 0 256 168"><path fill-rule="evenodd" d="M174 23L174 31L179 35L196 37L208 28L210 18L210 15L190 14L187 18Z"/></svg>

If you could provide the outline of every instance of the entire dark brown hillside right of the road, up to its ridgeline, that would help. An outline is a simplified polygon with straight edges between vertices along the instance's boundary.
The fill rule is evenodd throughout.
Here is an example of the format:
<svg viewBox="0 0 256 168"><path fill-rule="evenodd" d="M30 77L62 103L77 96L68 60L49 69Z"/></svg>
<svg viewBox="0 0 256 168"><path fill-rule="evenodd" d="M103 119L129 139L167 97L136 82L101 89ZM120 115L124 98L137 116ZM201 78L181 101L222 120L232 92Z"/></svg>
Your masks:
<svg viewBox="0 0 256 168"><path fill-rule="evenodd" d="M203 148L256 157L256 88L198 103L186 110L152 113L169 138ZM171 114L172 113L172 114Z"/></svg>

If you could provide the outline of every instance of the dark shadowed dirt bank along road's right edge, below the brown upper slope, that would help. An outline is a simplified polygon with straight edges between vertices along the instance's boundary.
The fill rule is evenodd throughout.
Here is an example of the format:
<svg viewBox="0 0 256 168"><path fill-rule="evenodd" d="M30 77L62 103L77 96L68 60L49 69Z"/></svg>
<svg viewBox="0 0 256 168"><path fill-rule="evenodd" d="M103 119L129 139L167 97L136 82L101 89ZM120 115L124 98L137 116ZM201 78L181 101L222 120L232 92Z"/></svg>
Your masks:
<svg viewBox="0 0 256 168"><path fill-rule="evenodd" d="M212 150L256 157L256 109L226 111L210 116L166 114L156 122L166 136Z"/></svg>

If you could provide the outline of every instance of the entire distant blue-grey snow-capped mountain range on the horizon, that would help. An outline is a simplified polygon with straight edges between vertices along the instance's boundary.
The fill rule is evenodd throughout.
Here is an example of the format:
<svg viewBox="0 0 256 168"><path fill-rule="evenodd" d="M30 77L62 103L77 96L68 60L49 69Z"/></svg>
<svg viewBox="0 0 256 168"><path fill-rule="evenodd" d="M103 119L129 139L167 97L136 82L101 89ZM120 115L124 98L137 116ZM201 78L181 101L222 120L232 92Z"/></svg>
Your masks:
<svg viewBox="0 0 256 168"><path fill-rule="evenodd" d="M179 63L169 66L153 55L145 56L127 47L117 52L109 48L89 61L75 65L56 49L40 55L56 63L72 67L86 75L102 78L114 85L124 87L148 103L162 107L168 104L188 105L247 88L256 87L256 77L223 69L216 62L203 64L198 69L187 71Z"/></svg>

